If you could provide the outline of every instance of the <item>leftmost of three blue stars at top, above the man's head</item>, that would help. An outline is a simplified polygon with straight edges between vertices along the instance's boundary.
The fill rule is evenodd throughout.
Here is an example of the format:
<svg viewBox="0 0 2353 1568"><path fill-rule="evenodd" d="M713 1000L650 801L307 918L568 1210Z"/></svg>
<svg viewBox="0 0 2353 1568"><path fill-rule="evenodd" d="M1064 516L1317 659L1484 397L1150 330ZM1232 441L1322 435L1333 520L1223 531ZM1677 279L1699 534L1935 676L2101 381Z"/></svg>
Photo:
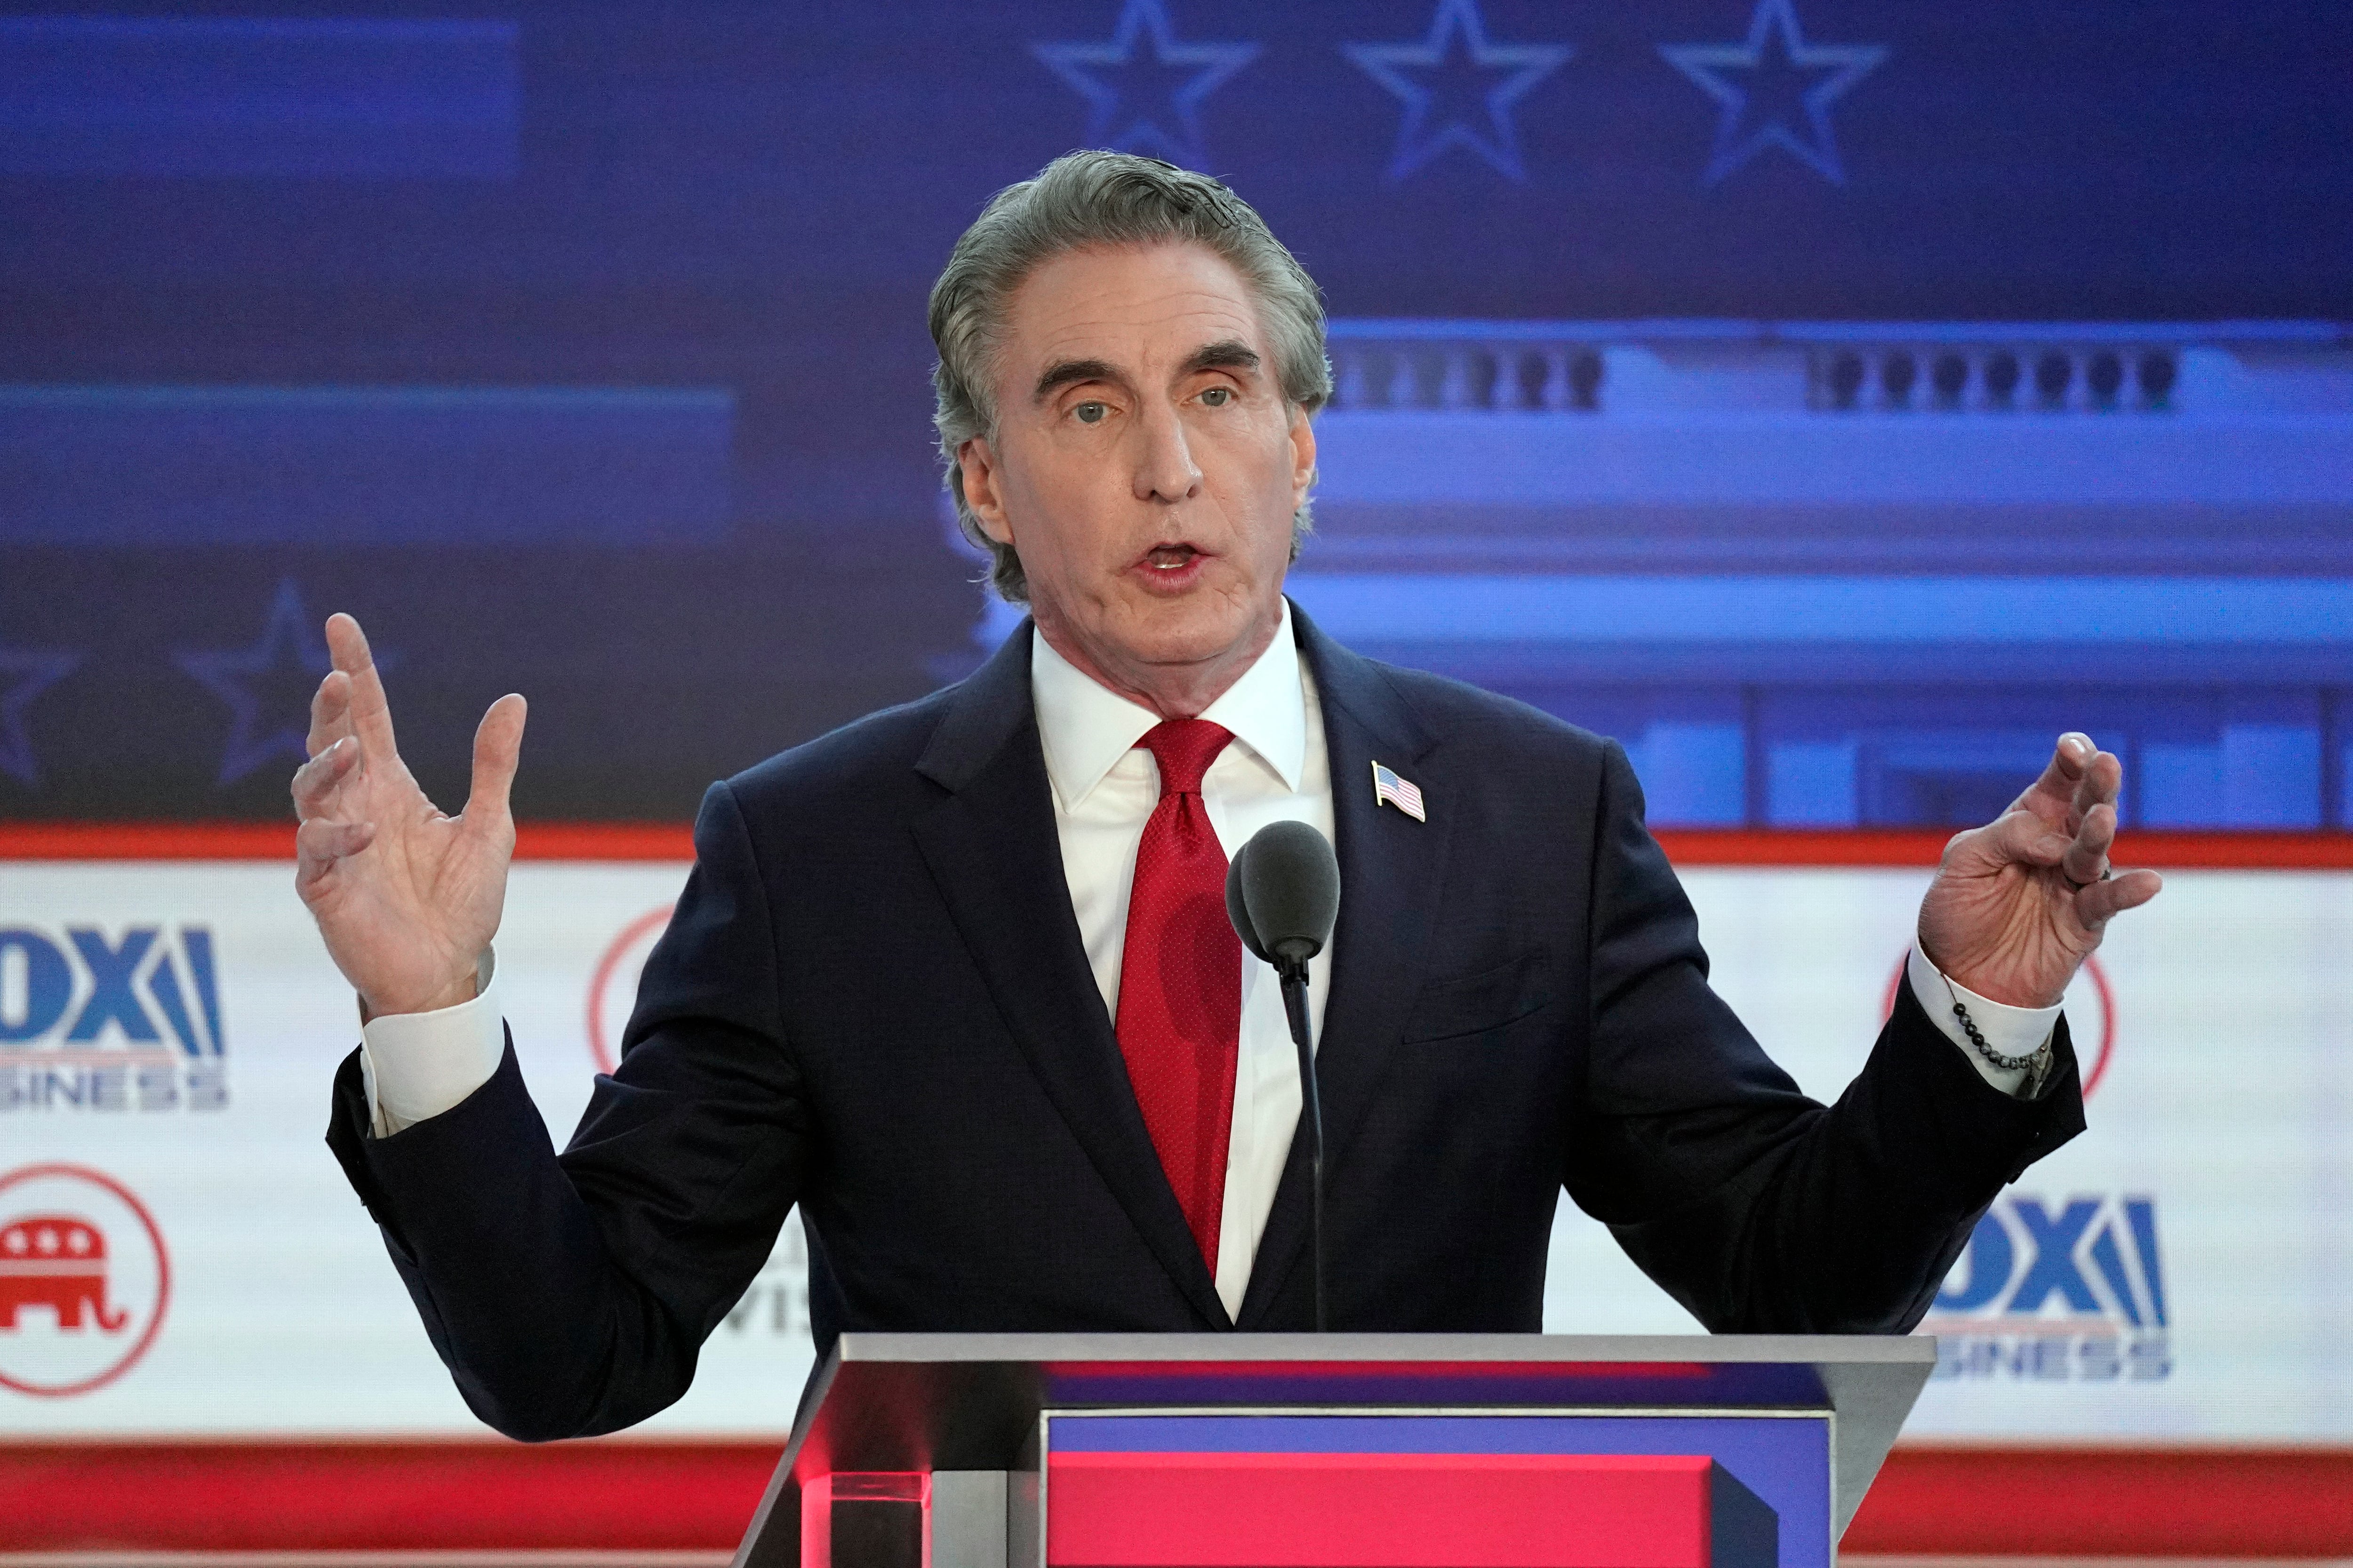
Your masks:
<svg viewBox="0 0 2353 1568"><path fill-rule="evenodd" d="M1031 45L1038 63L1087 99L1087 141L1200 169L1200 103L1259 59L1254 42L1181 45L1160 0L1127 0L1108 45Z"/></svg>

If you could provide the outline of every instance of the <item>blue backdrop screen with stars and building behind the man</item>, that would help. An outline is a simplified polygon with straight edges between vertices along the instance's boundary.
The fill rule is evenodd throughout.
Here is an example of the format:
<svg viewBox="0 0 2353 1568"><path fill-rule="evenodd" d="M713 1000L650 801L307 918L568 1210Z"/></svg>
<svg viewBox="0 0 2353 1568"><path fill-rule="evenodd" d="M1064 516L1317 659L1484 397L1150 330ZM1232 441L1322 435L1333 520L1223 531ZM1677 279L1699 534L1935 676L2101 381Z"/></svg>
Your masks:
<svg viewBox="0 0 2353 1568"><path fill-rule="evenodd" d="M1327 292L1299 599L1659 820L2346 820L2353 14L2219 0L0 7L0 813L278 816L329 609L452 809L958 677L925 294L1073 146Z"/></svg>

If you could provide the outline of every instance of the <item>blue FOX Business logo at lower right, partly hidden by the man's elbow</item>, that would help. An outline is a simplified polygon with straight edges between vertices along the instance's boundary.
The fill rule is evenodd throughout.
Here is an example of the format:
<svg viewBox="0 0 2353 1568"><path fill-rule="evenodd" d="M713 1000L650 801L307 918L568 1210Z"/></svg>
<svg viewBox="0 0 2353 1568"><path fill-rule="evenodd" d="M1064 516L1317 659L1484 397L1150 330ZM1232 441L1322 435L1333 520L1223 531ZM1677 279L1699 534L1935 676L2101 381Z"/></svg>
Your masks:
<svg viewBox="0 0 2353 1568"><path fill-rule="evenodd" d="M2005 1197L1969 1234L1922 1333L1937 1378L2155 1382L2172 1375L2158 1204Z"/></svg>

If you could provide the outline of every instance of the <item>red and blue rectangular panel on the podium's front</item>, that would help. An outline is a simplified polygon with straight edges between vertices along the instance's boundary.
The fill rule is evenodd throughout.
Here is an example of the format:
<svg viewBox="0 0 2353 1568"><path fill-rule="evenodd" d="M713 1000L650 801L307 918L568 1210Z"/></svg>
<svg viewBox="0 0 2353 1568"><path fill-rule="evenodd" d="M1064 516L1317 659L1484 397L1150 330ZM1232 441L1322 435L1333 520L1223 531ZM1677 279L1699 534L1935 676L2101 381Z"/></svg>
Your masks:
<svg viewBox="0 0 2353 1568"><path fill-rule="evenodd" d="M1049 1413L1049 1568L1828 1568L1831 1422Z"/></svg>

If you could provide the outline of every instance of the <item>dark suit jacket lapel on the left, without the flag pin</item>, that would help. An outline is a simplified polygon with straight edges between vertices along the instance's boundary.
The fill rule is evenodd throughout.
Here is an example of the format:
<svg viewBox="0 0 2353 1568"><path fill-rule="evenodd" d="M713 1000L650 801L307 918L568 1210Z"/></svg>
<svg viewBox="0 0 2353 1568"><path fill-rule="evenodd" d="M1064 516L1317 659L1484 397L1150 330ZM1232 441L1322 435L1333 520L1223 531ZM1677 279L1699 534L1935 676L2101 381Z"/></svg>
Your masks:
<svg viewBox="0 0 2353 1568"><path fill-rule="evenodd" d="M932 733L915 771L948 799L915 820L915 844L1005 1027L1104 1185L1202 1321L1231 1328L1144 1131L1071 912L1028 651L1024 625L965 682Z"/></svg>

